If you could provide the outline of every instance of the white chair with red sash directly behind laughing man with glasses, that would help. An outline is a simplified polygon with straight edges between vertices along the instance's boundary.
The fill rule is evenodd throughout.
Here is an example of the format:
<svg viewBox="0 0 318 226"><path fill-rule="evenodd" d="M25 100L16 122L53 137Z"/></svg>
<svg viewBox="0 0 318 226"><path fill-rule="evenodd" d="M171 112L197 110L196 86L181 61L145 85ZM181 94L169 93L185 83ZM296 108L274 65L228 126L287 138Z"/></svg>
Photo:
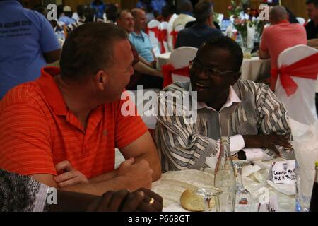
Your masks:
<svg viewBox="0 0 318 226"><path fill-rule="evenodd" d="M163 66L164 86L189 81L189 62L196 57L197 51L194 47L180 47L172 51L169 64Z"/></svg>

